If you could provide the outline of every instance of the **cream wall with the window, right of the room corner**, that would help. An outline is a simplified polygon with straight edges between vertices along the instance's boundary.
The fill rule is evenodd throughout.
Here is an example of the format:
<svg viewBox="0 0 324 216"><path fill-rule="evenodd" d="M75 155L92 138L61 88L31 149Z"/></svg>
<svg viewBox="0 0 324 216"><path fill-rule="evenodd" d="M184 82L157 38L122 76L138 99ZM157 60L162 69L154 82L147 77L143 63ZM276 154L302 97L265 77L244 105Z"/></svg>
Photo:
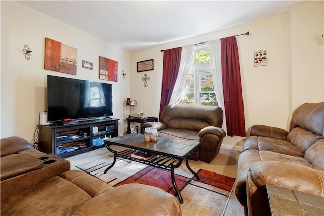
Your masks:
<svg viewBox="0 0 324 216"><path fill-rule="evenodd" d="M158 117L163 52L247 31L238 36L247 135L254 124L289 129L292 111L305 102L324 101L323 2L308 1L289 12L205 35L131 52L131 93L138 109ZM267 65L254 67L254 52L267 50ZM314 56L314 60L312 57ZM136 62L154 59L154 70L136 72ZM142 77L150 77L143 86ZM226 136L222 147L240 149L244 137Z"/></svg>

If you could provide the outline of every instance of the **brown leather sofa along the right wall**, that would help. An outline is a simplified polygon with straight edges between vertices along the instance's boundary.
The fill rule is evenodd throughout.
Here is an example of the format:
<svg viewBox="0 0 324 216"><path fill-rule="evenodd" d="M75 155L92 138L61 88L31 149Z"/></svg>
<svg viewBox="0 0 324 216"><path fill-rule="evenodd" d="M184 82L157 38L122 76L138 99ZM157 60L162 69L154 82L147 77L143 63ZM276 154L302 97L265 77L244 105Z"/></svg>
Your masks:
<svg viewBox="0 0 324 216"><path fill-rule="evenodd" d="M324 196L324 102L293 113L289 132L254 125L238 160L235 194L249 215L271 215L266 184Z"/></svg>

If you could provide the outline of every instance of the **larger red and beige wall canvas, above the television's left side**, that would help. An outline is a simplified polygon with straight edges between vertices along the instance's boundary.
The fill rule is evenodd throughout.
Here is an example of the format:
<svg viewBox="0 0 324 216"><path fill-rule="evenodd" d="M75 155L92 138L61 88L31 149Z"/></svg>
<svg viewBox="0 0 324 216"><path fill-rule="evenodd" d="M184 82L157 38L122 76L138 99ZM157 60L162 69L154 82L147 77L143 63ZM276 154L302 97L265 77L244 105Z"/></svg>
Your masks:
<svg viewBox="0 0 324 216"><path fill-rule="evenodd" d="M76 75L77 49L45 38L44 69Z"/></svg>

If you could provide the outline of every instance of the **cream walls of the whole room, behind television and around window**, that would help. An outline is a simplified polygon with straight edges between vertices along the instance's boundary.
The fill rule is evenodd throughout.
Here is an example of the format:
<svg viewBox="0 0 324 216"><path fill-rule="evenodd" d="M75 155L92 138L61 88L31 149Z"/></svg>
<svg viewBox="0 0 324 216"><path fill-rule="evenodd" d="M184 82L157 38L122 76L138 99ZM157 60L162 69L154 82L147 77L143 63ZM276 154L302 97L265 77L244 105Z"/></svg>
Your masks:
<svg viewBox="0 0 324 216"><path fill-rule="evenodd" d="M0 7L1 138L21 136L32 140L39 113L45 110L48 74L112 83L116 118L121 118L121 104L127 97L137 100L138 110L143 110L148 116L158 116L163 60L161 49L247 31L249 36L237 37L247 133L253 124L288 129L291 112L298 105L324 101L322 1L307 1L274 17L132 52L20 3L1 1ZM44 70L45 37L78 49L76 76ZM24 45L30 46L33 51L29 61L22 54ZM253 54L260 49L267 50L267 66L254 67ZM118 61L118 82L98 79L99 56ZM136 62L148 59L154 59L154 70L137 73ZM94 70L82 68L82 60L93 62ZM121 70L127 73L125 79L121 77ZM148 87L143 86L144 74L150 76ZM239 149L243 139L226 137L223 144Z"/></svg>

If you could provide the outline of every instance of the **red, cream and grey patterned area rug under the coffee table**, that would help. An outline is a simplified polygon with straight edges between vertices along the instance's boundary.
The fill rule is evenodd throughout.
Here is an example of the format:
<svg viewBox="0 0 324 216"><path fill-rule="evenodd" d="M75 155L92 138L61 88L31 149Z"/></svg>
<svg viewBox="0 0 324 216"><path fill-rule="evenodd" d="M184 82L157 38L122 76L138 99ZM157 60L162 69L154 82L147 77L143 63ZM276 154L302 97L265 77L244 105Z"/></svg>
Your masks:
<svg viewBox="0 0 324 216"><path fill-rule="evenodd" d="M145 164L126 159L117 159L116 164L104 174L113 158L105 158L77 166L78 169L93 175L113 187L128 183L140 183L159 187L173 195L176 194L171 173ZM235 179L204 169L195 170L200 178L187 169L183 163L175 169L175 180L184 203L183 215L222 215L226 207Z"/></svg>

